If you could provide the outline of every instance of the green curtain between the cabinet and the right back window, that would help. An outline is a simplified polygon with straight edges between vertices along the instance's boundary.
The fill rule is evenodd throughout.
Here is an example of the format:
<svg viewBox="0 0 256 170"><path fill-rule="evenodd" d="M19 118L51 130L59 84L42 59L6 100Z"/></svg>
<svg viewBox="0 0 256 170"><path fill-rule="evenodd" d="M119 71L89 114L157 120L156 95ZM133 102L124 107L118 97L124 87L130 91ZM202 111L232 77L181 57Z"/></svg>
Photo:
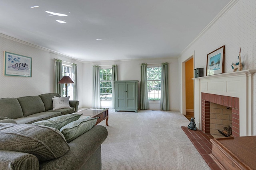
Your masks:
<svg viewBox="0 0 256 170"><path fill-rule="evenodd" d="M142 63L141 69L141 82L140 82L140 109L146 110L149 108L148 103L148 88L147 88L147 64Z"/></svg>

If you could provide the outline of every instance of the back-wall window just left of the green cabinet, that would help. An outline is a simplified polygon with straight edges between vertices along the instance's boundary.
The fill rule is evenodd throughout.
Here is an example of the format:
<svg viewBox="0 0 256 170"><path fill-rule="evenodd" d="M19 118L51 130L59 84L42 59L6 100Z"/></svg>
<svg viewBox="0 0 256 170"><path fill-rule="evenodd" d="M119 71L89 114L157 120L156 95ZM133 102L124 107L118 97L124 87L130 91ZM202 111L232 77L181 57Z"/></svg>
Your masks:
<svg viewBox="0 0 256 170"><path fill-rule="evenodd" d="M100 69L100 100L112 100L112 69Z"/></svg>

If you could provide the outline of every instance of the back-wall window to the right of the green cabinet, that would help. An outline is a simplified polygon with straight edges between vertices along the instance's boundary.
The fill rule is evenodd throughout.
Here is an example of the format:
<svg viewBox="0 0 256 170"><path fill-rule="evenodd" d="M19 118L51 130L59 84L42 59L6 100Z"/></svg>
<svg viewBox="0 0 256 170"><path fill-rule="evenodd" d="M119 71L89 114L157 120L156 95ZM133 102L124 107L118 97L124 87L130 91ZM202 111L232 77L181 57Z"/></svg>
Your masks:
<svg viewBox="0 0 256 170"><path fill-rule="evenodd" d="M147 68L148 100L161 98L161 67Z"/></svg>

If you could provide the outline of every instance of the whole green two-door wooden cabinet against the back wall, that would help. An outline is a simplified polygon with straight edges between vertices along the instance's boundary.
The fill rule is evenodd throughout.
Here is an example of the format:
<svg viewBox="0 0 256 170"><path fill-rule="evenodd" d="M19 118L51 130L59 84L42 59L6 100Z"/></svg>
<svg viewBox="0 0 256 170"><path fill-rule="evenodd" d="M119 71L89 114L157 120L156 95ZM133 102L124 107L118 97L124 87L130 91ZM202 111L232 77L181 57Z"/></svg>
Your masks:
<svg viewBox="0 0 256 170"><path fill-rule="evenodd" d="M115 111L138 111L138 80L114 81Z"/></svg>

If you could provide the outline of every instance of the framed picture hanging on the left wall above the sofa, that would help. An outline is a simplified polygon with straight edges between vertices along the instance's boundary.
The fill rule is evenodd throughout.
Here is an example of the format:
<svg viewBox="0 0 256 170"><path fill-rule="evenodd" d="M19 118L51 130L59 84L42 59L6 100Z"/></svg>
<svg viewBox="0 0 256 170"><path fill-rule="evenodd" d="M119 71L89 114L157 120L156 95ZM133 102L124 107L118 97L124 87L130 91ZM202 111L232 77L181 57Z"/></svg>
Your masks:
<svg viewBox="0 0 256 170"><path fill-rule="evenodd" d="M32 77L32 57L4 51L4 76Z"/></svg>

